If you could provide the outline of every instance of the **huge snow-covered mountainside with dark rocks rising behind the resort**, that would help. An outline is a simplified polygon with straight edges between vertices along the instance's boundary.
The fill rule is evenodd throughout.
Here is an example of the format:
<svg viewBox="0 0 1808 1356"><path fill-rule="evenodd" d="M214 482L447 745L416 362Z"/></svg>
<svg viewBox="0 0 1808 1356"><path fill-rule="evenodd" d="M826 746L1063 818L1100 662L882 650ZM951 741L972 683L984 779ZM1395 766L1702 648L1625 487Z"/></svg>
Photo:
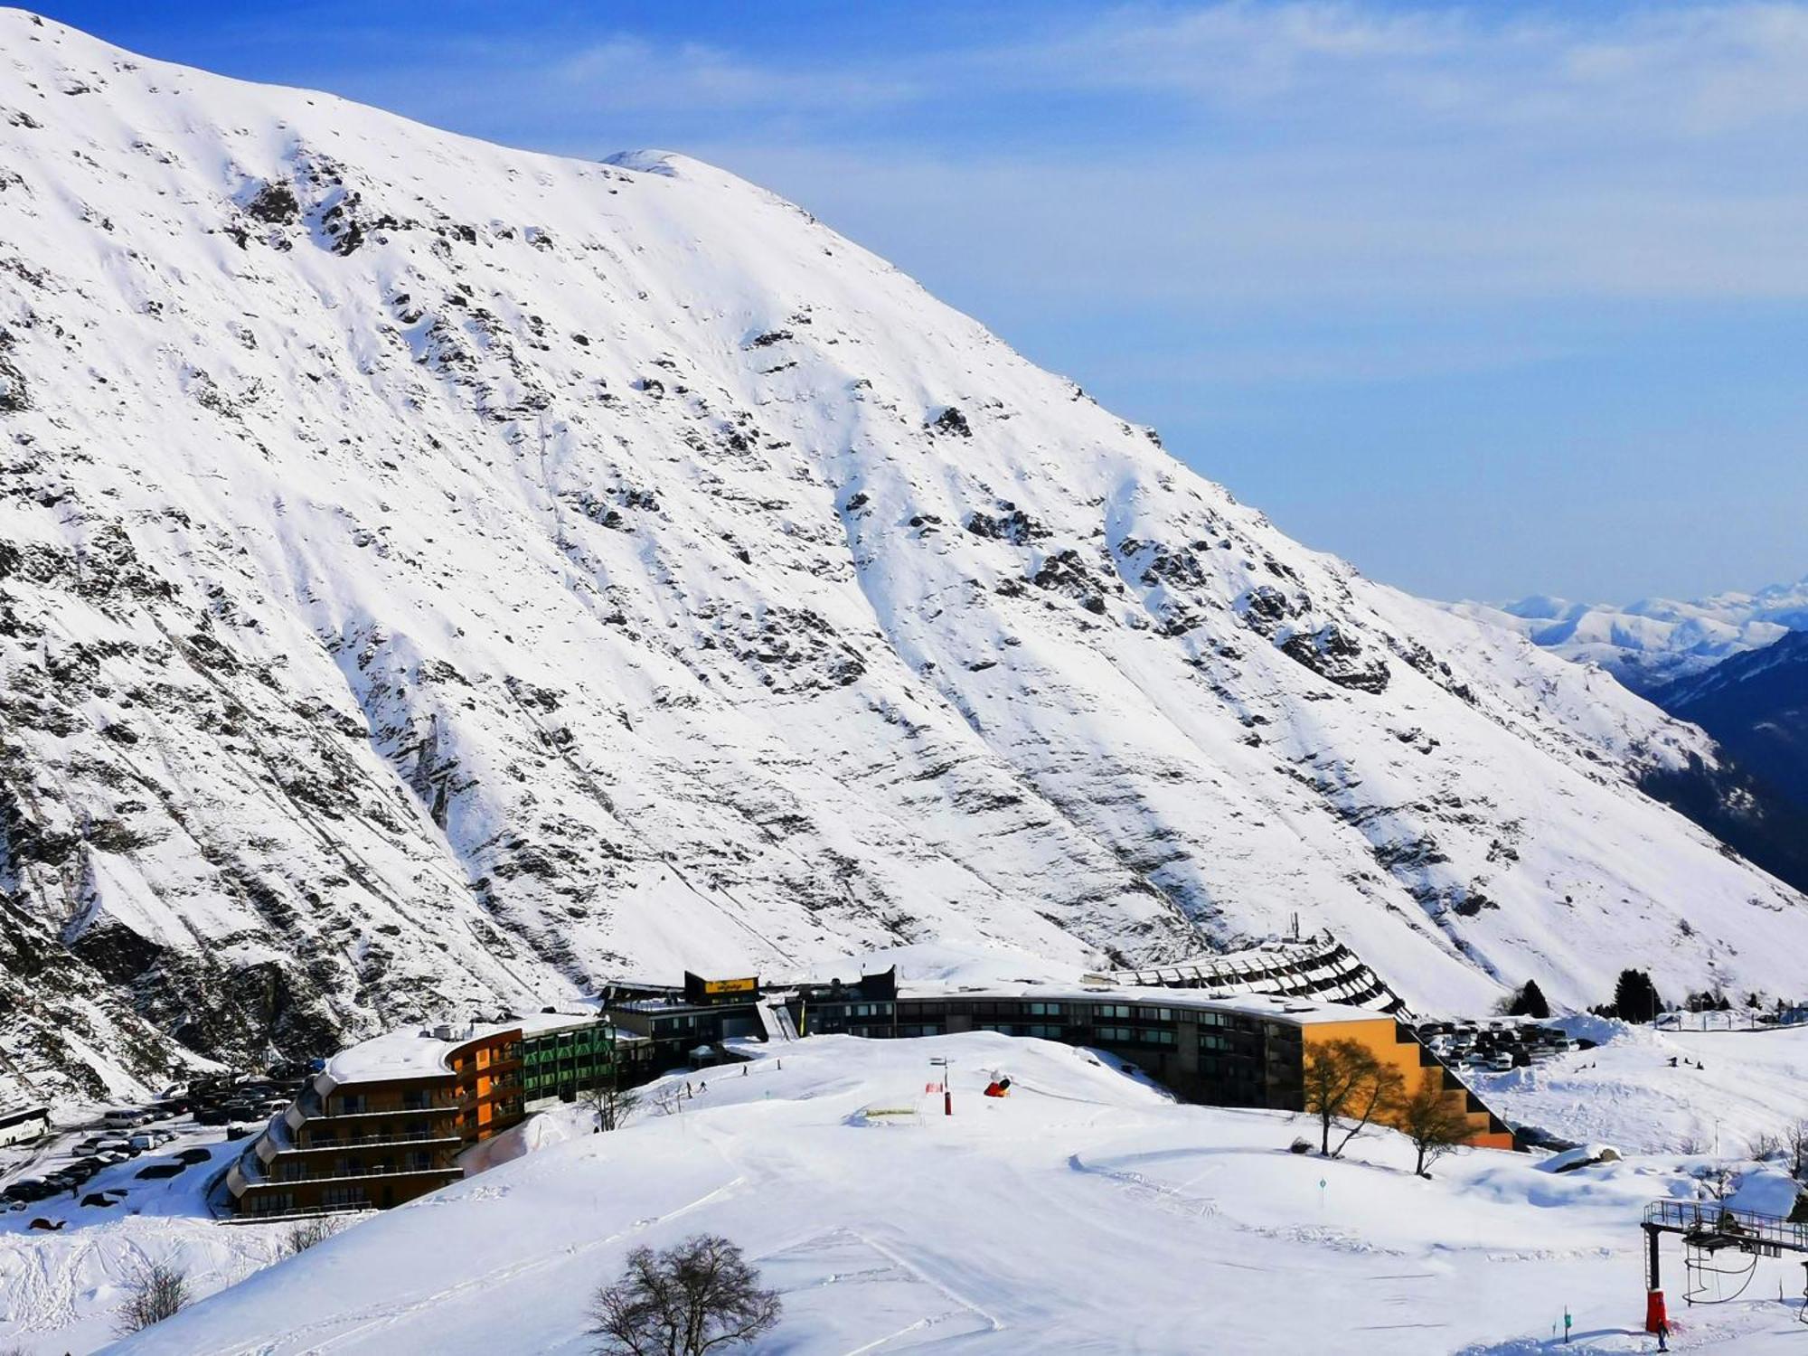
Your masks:
<svg viewBox="0 0 1808 1356"><path fill-rule="evenodd" d="M1410 1002L1788 991L1607 674L1360 577L897 269L0 13L0 1049L1329 926Z"/></svg>

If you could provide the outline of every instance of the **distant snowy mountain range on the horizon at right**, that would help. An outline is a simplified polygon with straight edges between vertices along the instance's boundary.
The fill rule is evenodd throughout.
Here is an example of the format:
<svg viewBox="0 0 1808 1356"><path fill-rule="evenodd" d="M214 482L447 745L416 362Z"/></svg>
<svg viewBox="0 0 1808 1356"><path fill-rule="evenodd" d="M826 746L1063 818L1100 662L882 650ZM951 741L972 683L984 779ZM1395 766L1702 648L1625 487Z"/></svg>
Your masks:
<svg viewBox="0 0 1808 1356"><path fill-rule="evenodd" d="M1728 654L1808 631L1808 575L1795 584L1694 602L1642 598L1613 606L1539 595L1499 607L1459 602L1452 611L1504 626L1568 660L1598 664L1634 692L1651 692L1705 673Z"/></svg>

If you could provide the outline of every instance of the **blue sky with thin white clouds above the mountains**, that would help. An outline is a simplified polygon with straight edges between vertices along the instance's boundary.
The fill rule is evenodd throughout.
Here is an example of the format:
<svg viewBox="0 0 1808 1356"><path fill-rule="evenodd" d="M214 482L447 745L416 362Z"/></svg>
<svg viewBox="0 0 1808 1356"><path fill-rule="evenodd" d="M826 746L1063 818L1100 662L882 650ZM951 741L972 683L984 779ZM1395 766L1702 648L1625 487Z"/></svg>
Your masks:
<svg viewBox="0 0 1808 1356"><path fill-rule="evenodd" d="M1808 571L1808 4L52 4L683 150L1432 597Z"/></svg>

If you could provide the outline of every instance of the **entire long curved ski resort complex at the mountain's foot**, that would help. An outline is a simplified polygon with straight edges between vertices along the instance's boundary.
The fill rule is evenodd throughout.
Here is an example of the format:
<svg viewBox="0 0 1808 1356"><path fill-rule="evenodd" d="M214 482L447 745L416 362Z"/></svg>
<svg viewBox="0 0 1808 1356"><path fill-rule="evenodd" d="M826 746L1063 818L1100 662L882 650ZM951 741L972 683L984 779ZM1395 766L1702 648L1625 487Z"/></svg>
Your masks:
<svg viewBox="0 0 1808 1356"><path fill-rule="evenodd" d="M1331 938L1275 942L1074 984L763 985L758 976L682 985L609 984L584 1014L394 1031L333 1056L302 1096L226 1173L242 1215L371 1210L463 1177L459 1155L555 1101L611 1081L734 1058L734 1040L871 1040L994 1031L1106 1050L1186 1101L1304 1108L1307 1052L1351 1040L1425 1076L1470 1121L1472 1144L1511 1148L1513 1134L1398 1020L1399 998Z"/></svg>

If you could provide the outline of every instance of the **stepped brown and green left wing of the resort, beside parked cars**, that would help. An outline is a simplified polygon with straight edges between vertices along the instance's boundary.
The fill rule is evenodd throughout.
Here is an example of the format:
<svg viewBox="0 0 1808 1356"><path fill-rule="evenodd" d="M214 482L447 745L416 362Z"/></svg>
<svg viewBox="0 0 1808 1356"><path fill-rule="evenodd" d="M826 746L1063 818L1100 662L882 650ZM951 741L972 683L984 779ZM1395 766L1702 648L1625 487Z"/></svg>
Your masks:
<svg viewBox="0 0 1808 1356"><path fill-rule="evenodd" d="M459 1154L611 1079L651 1045L598 1012L391 1031L333 1056L226 1172L240 1215L387 1210L465 1175Z"/></svg>

